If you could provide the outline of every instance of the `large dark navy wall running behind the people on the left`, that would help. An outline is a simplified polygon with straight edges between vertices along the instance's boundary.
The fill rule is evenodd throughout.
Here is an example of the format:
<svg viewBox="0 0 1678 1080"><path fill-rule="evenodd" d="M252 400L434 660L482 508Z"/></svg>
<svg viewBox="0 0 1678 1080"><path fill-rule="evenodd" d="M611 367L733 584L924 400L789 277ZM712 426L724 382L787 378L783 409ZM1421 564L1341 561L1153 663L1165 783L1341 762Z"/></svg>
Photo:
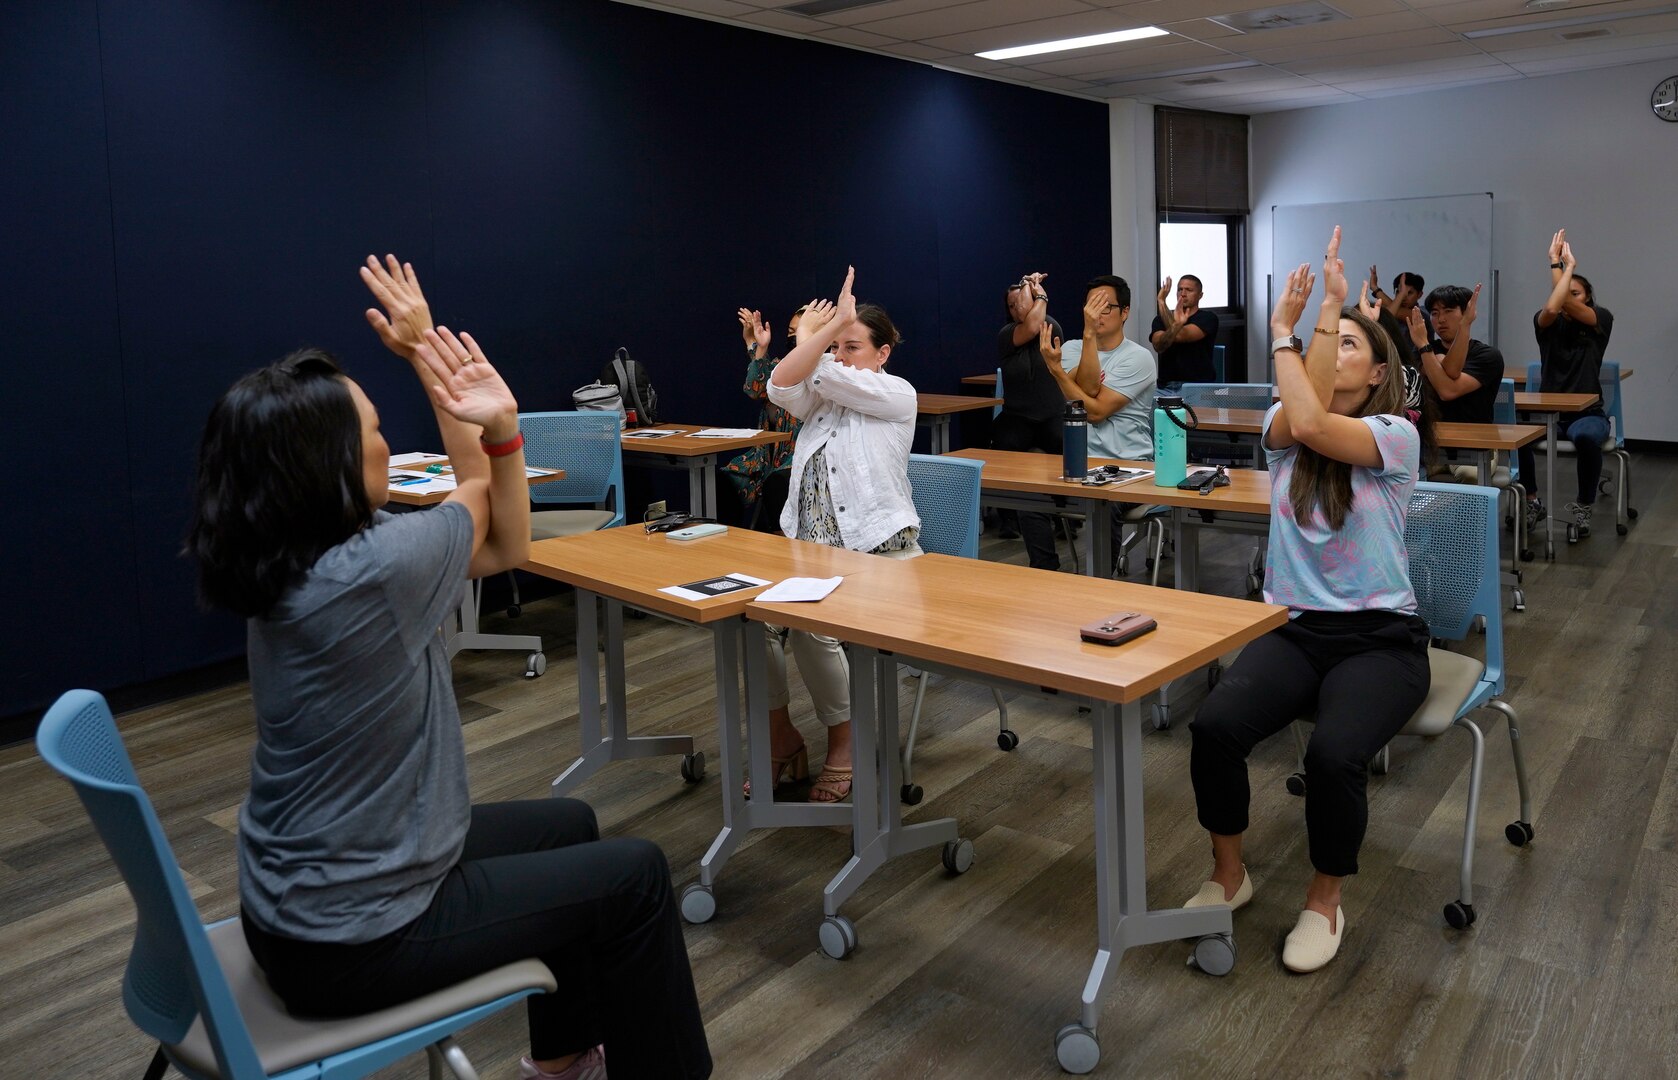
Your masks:
<svg viewBox="0 0 1678 1080"><path fill-rule="evenodd" d="M7 267L8 299L30 300L29 352L72 362L99 423L77 416L91 441L34 488L52 528L8 517L8 562L57 558L65 582L23 594L47 632L30 627L39 672L7 681L0 714L238 652L176 550L203 418L240 372L319 344L394 448L436 444L362 322L369 252L416 263L440 322L478 335L524 408L569 408L629 345L671 419L715 424L757 413L740 305L779 349L792 307L856 263L859 297L906 337L893 369L951 392L993 366L1008 280L1050 272L1076 319L1109 262L1096 102L606 0L50 10L0 15L20 57L0 72L20 91L5 131L29 148L0 176L30 184L0 233L52 263ZM67 396L30 377L27 397ZM20 418L10 460L67 423ZM94 461L106 481L69 495ZM60 535L76 525L99 533L87 550ZM52 597L102 612L92 657L47 662L87 622Z"/></svg>

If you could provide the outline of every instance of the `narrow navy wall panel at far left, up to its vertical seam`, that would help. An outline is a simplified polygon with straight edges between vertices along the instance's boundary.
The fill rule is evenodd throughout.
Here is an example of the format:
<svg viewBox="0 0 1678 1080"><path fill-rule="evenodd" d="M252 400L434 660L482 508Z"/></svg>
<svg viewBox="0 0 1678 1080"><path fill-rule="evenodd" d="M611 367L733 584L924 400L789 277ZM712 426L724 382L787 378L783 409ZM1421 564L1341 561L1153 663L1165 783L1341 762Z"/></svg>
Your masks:
<svg viewBox="0 0 1678 1080"><path fill-rule="evenodd" d="M84 3L0 5L0 713L141 676L99 86ZM8 708L10 706L10 708Z"/></svg>

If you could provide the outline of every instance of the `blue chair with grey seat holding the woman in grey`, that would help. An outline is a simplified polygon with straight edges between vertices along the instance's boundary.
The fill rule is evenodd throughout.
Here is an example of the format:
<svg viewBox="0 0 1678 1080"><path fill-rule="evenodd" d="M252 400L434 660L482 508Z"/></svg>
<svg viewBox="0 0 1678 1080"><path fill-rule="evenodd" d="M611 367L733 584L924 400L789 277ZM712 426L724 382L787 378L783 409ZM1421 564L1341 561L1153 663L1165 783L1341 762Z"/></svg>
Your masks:
<svg viewBox="0 0 1678 1080"><path fill-rule="evenodd" d="M122 1005L161 1043L148 1080L166 1065L193 1080L337 1080L364 1077L421 1048L433 1077L446 1067L472 1080L477 1073L451 1035L555 988L545 964L525 959L364 1016L292 1016L245 948L238 919L200 924L104 698L87 689L59 698L35 745L76 788L134 899Z"/></svg>

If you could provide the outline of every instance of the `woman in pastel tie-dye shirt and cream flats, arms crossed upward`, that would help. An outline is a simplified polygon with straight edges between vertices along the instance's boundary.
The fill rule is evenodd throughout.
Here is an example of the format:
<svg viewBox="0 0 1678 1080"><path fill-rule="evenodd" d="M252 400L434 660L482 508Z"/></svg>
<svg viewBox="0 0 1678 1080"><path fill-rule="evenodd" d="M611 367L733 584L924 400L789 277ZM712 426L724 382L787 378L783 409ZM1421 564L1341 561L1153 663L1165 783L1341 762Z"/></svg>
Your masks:
<svg viewBox="0 0 1678 1080"><path fill-rule="evenodd" d="M1265 600L1287 626L1242 651L1190 724L1190 775L1212 833L1212 879L1188 907L1252 899L1242 864L1247 755L1316 709L1305 748L1305 832L1316 875L1282 963L1316 971L1344 937L1341 885L1369 818L1366 765L1428 694L1428 626L1416 614L1404 518L1421 439L1404 416L1398 345L1344 307L1334 230L1309 349L1294 335L1316 278L1287 277L1270 329L1282 401L1265 414L1270 545Z"/></svg>

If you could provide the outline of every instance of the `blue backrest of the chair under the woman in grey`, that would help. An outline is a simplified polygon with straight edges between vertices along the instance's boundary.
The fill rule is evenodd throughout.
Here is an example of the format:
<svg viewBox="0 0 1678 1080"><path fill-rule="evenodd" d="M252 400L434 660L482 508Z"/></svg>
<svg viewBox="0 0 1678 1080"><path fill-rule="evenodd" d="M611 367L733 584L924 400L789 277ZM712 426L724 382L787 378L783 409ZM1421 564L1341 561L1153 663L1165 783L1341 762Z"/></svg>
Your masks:
<svg viewBox="0 0 1678 1080"><path fill-rule="evenodd" d="M134 948L122 976L129 1018L175 1045L201 1013L221 1075L265 1077L111 706L87 689L64 694L40 721L35 746L76 788L134 899Z"/></svg>

